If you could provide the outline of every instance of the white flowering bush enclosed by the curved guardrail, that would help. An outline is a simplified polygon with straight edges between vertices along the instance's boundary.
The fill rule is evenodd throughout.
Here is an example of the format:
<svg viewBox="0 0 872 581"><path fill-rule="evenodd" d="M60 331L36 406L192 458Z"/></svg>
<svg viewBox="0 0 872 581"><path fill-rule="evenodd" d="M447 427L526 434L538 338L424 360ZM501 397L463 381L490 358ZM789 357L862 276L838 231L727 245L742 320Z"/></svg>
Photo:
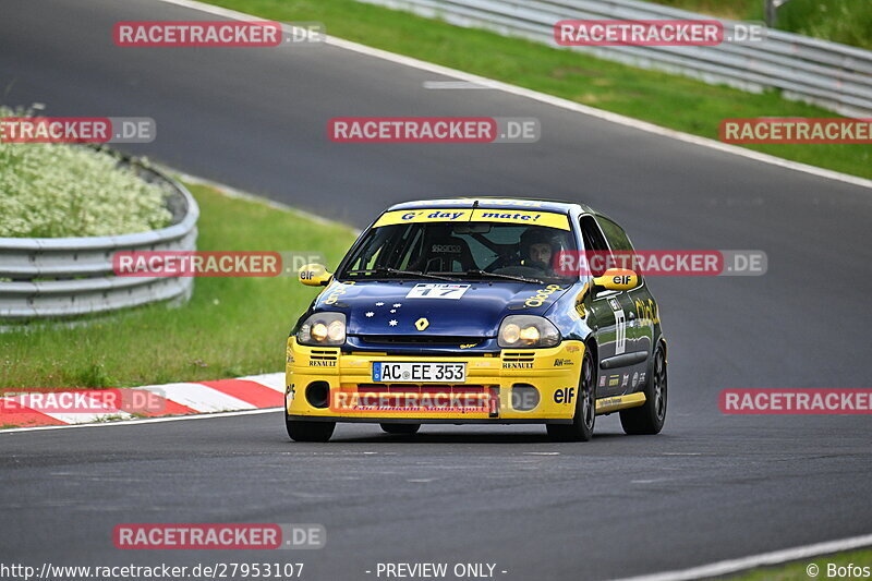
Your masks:
<svg viewBox="0 0 872 581"><path fill-rule="evenodd" d="M0 107L0 118L32 114ZM171 220L168 194L104 152L0 141L0 237L97 237L164 228Z"/></svg>

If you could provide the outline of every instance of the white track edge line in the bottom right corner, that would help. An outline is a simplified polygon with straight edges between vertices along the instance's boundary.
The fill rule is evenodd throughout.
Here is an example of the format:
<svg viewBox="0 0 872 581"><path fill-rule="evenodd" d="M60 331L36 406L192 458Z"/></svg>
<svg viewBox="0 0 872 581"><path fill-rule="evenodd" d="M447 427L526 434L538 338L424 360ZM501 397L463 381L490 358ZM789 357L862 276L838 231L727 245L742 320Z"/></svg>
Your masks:
<svg viewBox="0 0 872 581"><path fill-rule="evenodd" d="M851 550L853 548L861 548L871 545L872 534L864 534L861 536L841 538L839 541L827 541L825 543L815 543L813 545L803 545L783 550L773 550L772 553L762 553L760 555L752 555L750 557L722 560L712 562L710 565L692 567L690 569L679 569L675 571L664 571L661 573L643 574L639 577L628 577L618 581L685 581L706 579L710 577L722 577L748 569L754 569L756 567L783 565L789 561L809 559L811 557L820 557L821 555L841 553L843 550Z"/></svg>

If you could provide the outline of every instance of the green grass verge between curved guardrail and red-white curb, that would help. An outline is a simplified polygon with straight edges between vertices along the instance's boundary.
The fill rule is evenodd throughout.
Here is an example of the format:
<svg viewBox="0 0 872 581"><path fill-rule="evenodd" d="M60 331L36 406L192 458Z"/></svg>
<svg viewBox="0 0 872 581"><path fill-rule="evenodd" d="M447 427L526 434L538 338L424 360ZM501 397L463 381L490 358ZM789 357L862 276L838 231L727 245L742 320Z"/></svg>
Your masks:
<svg viewBox="0 0 872 581"><path fill-rule="evenodd" d="M313 251L335 266L351 229L191 186L201 251ZM293 277L198 278L179 308L149 305L87 326L0 335L0 390L129 387L278 372L291 325L317 289Z"/></svg>

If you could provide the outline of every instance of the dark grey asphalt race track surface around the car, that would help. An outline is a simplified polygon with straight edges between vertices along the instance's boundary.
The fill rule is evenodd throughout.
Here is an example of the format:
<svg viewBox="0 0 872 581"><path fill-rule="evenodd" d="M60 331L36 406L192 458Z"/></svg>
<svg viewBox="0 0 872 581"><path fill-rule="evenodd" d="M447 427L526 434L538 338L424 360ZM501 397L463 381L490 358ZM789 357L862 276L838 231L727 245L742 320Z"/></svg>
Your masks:
<svg viewBox="0 0 872 581"><path fill-rule="evenodd" d="M434 560L604 579L872 530L869 416L717 407L724 388L871 387L872 191L496 90L425 89L446 78L335 47L112 45L117 21L216 20L158 1L4 0L2 12L1 102L152 117L157 140L126 150L187 173L356 226L419 197L581 201L639 249L759 249L768 273L650 280L670 344L659 436L623 436L608 416L588 444L552 444L541 426L403 439L346 424L306 445L288 440L279 413L0 434L0 560L290 559L306 579L336 580ZM542 140L326 136L331 117L413 114L536 117ZM111 542L122 522L323 523L328 541L292 554L123 552Z"/></svg>

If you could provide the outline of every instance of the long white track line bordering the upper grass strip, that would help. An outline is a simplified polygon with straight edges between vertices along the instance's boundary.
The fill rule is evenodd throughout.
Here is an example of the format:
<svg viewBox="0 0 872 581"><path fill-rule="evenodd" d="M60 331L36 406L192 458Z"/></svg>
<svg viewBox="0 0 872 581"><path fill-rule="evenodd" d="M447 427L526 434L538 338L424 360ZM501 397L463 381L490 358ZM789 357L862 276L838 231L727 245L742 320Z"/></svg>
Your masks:
<svg viewBox="0 0 872 581"><path fill-rule="evenodd" d="M238 12L235 10L229 10L226 8L213 7L209 4L204 4L203 2L197 2L195 0L156 0L156 1L164 2L167 4L174 4L191 10L197 10L201 12L206 12L209 14L214 14L216 16L223 16L226 19L231 19L231 20L238 20L238 21L263 20L263 17L261 16L254 16L252 14L245 14L244 12ZM282 26L287 31L293 29L293 26L288 24L284 24ZM795 171L801 171L803 173L810 173L812 175L818 175L819 178L826 178L829 180L850 183L852 185L859 185L861 187L872 189L872 180L858 178L857 175L848 175L847 173L840 173L838 171L818 168L814 166L809 166L807 164L800 164L798 161L789 161L780 157L767 154L761 154L752 149L746 149L743 147L737 147L735 145L729 145L714 140L708 140L706 137L700 137L698 135L691 135L689 133L683 133L680 131L662 128L659 125L655 125L654 123L649 123L646 121L640 121L638 119L632 119L630 117L625 117L618 113L611 113L608 111L604 111L602 109L596 109L594 107L588 107L586 105L581 105L574 101L570 101L568 99L561 99L553 95L546 95L544 93L538 93L536 90L531 90L529 88L518 87L514 85L510 85L508 83L494 81L493 78L487 78L484 76L465 73L463 71L458 71L456 69L449 69L448 66L441 66L439 64L434 64L432 62L425 62L422 60L413 59L411 57L403 57L402 55L395 55L393 52L388 52L387 50L380 50L377 48L367 47L364 45L360 45L358 43L344 40L342 38L327 36L325 43L338 48L343 48L346 50L351 50L354 52L359 52L361 55L366 55L368 57L375 57L397 64L412 66L414 69L419 69L422 71L427 71L444 76L450 76L453 78L458 78L460 81L475 83L477 85L485 85L488 88L502 90L505 93L510 93L519 97L526 97L529 99L537 100L540 102L553 105L555 107L560 107L561 109L568 109L570 111L576 111L578 113L583 113L590 117L595 117L597 119L603 119L605 121L610 121L611 123L618 123L620 125L630 126L633 129L638 129L640 131L645 131L647 133L654 133L656 135L662 135L664 137L671 137L674 140L678 140L681 142L691 143L693 145L699 145L701 147L708 147L710 149L716 149L718 152L723 152L726 154L746 157L748 159L753 159L755 161L761 161L763 164L770 164L772 166L778 166Z"/></svg>

